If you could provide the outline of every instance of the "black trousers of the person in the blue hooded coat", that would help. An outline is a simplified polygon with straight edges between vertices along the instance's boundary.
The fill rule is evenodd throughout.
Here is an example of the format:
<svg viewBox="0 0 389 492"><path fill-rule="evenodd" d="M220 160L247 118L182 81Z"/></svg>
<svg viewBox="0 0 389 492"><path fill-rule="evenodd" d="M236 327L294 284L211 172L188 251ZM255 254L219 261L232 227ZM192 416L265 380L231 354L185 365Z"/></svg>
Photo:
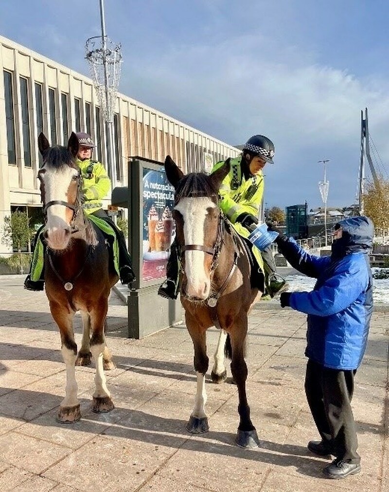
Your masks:
<svg viewBox="0 0 389 492"><path fill-rule="evenodd" d="M324 443L339 460L359 463L351 400L356 370L329 369L308 360L305 394Z"/></svg>

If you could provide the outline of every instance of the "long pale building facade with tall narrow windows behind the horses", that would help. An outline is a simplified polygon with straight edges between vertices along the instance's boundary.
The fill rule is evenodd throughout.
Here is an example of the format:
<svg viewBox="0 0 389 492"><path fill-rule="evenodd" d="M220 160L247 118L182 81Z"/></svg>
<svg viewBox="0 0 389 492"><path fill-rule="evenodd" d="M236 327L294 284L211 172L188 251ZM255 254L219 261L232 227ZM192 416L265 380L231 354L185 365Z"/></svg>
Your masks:
<svg viewBox="0 0 389 492"><path fill-rule="evenodd" d="M66 145L72 131L90 133L93 158L106 163L106 134L93 81L0 36L0 239L4 217L26 210L41 221L37 138ZM124 94L114 115L117 183L127 184L130 156L163 162L170 154L184 173L197 172L239 150ZM107 208L109 197L104 201ZM34 217L37 217L34 219ZM0 241L0 255L9 252Z"/></svg>

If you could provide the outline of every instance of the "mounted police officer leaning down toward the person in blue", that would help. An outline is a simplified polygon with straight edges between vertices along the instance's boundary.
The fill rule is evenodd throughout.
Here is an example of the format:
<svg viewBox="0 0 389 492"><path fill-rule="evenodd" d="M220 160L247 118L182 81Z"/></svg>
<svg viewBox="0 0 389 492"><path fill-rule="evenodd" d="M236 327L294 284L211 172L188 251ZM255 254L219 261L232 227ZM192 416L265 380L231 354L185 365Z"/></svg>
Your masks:
<svg viewBox="0 0 389 492"><path fill-rule="evenodd" d="M230 159L230 172L223 180L220 189L220 208L230 220L240 236L248 238L258 224L258 213L264 194L262 170L266 163L273 164L274 144L263 135L253 135L243 147L239 157ZM217 162L212 172L222 166ZM267 293L273 297L288 288L285 280L276 273L275 262L270 247L259 252L253 246L253 254L258 267L265 273ZM162 297L177 299L179 280L179 252L175 243L167 264L167 278L159 287Z"/></svg>

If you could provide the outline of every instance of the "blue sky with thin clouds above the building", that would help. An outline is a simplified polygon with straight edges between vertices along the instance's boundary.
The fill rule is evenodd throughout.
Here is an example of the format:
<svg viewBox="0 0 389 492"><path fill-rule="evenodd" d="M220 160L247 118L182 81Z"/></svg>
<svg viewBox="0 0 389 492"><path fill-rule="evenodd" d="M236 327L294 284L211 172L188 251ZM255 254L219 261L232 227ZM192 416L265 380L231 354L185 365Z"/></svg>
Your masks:
<svg viewBox="0 0 389 492"><path fill-rule="evenodd" d="M378 171L388 172L387 1L104 3L107 35L122 45L120 92L231 145L273 140L269 207L321 206L324 158L328 206L354 202L365 106ZM89 75L99 0L3 1L0 34Z"/></svg>

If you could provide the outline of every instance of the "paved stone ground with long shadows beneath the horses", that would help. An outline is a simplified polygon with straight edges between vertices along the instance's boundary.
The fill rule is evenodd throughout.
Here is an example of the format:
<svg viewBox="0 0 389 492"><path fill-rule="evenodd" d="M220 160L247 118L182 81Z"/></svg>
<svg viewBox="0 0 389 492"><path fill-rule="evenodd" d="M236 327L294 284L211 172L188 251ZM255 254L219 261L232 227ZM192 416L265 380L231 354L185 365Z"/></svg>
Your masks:
<svg viewBox="0 0 389 492"><path fill-rule="evenodd" d="M192 343L184 325L142 340L125 338L127 307L113 294L107 372L115 410L91 409L94 369L77 368L83 419L57 424L65 371L44 293L23 277L0 277L1 491L388 491L389 309L375 312L353 407L362 472L323 478L329 460L306 449L317 438L303 390L305 317L261 303L249 317L247 382L261 446L234 445L237 388L209 383L210 431L185 431L195 392ZM76 317L81 342L81 317ZM218 336L209 330L210 359ZM231 376L229 372L229 376Z"/></svg>

